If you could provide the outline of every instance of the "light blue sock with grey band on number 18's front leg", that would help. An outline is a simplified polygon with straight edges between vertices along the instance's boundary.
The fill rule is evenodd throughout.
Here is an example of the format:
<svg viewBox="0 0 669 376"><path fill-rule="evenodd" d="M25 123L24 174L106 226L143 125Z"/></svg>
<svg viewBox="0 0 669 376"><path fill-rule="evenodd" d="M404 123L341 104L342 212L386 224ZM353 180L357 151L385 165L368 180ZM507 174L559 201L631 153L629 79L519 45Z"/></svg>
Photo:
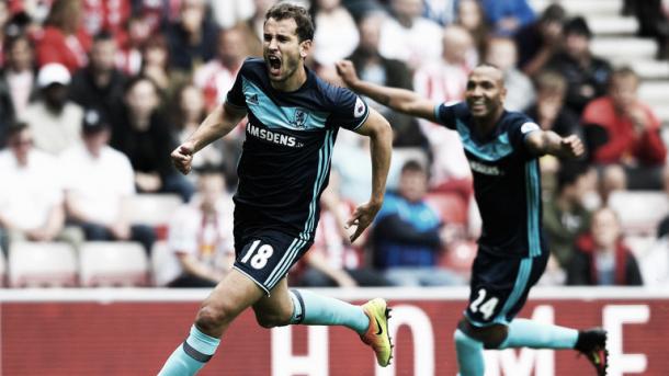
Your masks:
<svg viewBox="0 0 669 376"><path fill-rule="evenodd" d="M209 337L192 326L189 338L174 350L158 376L195 375L214 355L218 343L219 339Z"/></svg>

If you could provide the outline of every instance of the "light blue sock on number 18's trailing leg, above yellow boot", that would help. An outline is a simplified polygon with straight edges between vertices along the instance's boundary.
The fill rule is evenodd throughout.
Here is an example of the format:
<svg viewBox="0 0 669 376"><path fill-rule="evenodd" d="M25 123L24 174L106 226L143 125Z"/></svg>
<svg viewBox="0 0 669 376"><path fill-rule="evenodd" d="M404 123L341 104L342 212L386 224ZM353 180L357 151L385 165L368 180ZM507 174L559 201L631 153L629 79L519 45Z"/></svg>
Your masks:
<svg viewBox="0 0 669 376"><path fill-rule="evenodd" d="M291 290L293 317L291 323L308 326L344 326L362 335L370 327L370 318L360 306L314 294L309 290Z"/></svg>

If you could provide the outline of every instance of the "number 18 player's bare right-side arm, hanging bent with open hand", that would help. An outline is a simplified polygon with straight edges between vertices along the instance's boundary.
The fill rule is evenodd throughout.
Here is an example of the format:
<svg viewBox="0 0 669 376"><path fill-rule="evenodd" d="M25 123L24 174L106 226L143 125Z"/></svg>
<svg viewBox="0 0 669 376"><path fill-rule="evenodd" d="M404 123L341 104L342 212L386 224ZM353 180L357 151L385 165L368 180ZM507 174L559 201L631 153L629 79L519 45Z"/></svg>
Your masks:
<svg viewBox="0 0 669 376"><path fill-rule="evenodd" d="M351 242L372 224L376 213L381 209L386 191L386 179L390 168L390 152L393 150L393 129L390 124L375 110L370 109L370 116L358 128L359 134L370 137L372 157L372 196L370 201L358 206L347 226L355 226Z"/></svg>

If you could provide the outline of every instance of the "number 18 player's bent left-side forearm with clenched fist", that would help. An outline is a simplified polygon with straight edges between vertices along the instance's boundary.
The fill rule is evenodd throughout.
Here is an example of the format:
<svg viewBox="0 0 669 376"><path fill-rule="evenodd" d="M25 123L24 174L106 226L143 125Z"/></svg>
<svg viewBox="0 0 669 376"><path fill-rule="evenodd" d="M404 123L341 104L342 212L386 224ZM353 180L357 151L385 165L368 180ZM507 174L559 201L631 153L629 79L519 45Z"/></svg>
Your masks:
<svg viewBox="0 0 669 376"><path fill-rule="evenodd" d="M227 103L217 106L197 129L172 151L172 162L183 174L191 172L193 155L214 140L227 135L246 116L246 111Z"/></svg>

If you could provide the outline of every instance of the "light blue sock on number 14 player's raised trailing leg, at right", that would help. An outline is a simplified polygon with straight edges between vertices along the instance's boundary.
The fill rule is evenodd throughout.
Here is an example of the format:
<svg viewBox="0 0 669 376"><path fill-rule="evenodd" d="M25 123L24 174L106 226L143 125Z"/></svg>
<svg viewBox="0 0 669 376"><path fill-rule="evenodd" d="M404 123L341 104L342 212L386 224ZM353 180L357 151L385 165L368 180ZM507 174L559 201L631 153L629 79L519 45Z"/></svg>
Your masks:
<svg viewBox="0 0 669 376"><path fill-rule="evenodd" d="M540 323L528 319L514 319L509 324L509 335L499 349L574 349L578 330Z"/></svg>

